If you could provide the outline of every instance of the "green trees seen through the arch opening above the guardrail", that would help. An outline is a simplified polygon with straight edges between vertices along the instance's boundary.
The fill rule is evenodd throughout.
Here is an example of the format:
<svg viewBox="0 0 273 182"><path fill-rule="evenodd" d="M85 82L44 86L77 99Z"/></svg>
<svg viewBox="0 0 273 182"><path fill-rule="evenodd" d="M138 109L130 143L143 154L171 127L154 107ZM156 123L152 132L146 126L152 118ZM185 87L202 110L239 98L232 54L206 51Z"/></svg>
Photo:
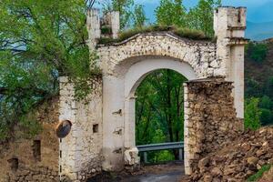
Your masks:
<svg viewBox="0 0 273 182"><path fill-rule="evenodd" d="M136 89L136 145L184 139L184 88L187 79L162 69L148 75ZM167 153L152 153L156 160ZM177 151L174 152L177 157ZM160 159L160 160L161 160Z"/></svg>

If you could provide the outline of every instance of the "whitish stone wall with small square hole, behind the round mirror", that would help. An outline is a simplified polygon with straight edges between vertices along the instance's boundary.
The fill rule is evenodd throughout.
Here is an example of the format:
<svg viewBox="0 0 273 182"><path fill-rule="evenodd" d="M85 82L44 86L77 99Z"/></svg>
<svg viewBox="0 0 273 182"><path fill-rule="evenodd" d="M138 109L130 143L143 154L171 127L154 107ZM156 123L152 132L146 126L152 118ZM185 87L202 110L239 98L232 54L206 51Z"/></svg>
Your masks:
<svg viewBox="0 0 273 182"><path fill-rule="evenodd" d="M59 119L72 123L70 133L60 140L61 179L82 180L101 171L102 80L97 78L86 100L78 101L74 86L60 77Z"/></svg>

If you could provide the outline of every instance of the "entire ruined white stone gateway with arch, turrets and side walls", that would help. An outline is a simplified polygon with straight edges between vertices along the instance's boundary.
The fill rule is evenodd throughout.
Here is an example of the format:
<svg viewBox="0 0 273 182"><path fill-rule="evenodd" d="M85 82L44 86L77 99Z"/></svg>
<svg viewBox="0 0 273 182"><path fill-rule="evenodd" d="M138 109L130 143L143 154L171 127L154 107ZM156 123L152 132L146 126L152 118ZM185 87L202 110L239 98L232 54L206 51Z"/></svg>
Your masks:
<svg viewBox="0 0 273 182"><path fill-rule="evenodd" d="M118 13L107 15L113 37ZM148 73L167 68L189 80L185 86L185 168L243 128L246 8L219 7L217 42L189 40L168 32L134 35L112 45L96 45L98 10L87 15L90 49L99 56L102 78L88 104L75 100L73 84L60 78L60 120L72 123L60 140L60 175L73 180L100 170L139 163L135 142L135 91ZM233 88L233 86L234 88Z"/></svg>

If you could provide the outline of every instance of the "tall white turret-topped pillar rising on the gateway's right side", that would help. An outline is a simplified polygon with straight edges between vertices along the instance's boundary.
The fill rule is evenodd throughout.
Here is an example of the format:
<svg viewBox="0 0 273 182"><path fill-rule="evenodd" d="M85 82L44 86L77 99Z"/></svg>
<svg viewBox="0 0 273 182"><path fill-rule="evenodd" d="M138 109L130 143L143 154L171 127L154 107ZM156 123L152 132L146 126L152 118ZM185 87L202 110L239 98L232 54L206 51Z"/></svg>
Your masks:
<svg viewBox="0 0 273 182"><path fill-rule="evenodd" d="M234 82L237 116L244 118L244 45L248 43L245 7L218 7L214 14L217 59L221 60L227 81Z"/></svg>

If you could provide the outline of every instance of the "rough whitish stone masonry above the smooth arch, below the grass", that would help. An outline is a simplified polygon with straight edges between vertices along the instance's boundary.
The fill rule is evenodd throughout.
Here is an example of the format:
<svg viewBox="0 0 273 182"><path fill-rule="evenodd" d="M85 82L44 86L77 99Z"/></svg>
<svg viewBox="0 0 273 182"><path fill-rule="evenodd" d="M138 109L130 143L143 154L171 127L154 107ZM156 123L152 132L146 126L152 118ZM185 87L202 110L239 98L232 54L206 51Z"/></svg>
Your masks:
<svg viewBox="0 0 273 182"><path fill-rule="evenodd" d="M125 67L144 56L154 56L187 63L197 77L226 76L225 63L217 59L215 43L181 38L172 33L139 34L114 45L98 45L97 54L105 75L123 76L127 71Z"/></svg>

